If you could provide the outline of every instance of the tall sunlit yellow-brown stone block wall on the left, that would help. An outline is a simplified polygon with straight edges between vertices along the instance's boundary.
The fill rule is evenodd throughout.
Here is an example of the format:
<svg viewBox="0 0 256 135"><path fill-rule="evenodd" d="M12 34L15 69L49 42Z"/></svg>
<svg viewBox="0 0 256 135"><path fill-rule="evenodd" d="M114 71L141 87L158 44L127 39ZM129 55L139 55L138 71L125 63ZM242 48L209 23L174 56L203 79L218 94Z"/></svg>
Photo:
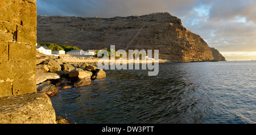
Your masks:
<svg viewBox="0 0 256 135"><path fill-rule="evenodd" d="M36 93L36 0L0 2L0 97Z"/></svg>

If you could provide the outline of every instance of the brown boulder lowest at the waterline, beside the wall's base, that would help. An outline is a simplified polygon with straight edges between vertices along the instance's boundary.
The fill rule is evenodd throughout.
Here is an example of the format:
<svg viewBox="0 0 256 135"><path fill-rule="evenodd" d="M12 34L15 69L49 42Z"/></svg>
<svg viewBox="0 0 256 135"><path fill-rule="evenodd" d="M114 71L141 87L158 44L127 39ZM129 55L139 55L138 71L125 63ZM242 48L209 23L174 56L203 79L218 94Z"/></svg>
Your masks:
<svg viewBox="0 0 256 135"><path fill-rule="evenodd" d="M43 84L37 88L40 93L46 93L49 97L55 95L59 91L57 90L56 86L53 84Z"/></svg>

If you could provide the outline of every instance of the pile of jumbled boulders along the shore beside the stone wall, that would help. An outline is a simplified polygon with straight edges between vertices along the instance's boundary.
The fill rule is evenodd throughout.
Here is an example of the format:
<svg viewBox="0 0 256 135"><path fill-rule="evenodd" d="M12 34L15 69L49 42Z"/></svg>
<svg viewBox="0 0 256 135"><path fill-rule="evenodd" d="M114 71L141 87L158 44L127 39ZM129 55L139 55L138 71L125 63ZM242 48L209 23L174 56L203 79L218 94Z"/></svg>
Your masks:
<svg viewBox="0 0 256 135"><path fill-rule="evenodd" d="M38 93L46 93L49 97L60 89L90 85L93 80L105 77L105 71L90 63L65 62L41 53L36 57L36 87Z"/></svg>

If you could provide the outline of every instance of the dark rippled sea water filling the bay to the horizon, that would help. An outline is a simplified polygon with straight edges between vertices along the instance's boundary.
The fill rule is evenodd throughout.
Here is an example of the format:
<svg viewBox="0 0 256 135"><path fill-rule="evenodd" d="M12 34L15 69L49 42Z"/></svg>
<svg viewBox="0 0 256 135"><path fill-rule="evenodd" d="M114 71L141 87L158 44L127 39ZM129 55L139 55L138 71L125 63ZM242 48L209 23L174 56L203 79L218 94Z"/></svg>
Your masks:
<svg viewBox="0 0 256 135"><path fill-rule="evenodd" d="M89 86L51 97L70 123L256 123L256 61L159 63L147 70L105 70Z"/></svg>

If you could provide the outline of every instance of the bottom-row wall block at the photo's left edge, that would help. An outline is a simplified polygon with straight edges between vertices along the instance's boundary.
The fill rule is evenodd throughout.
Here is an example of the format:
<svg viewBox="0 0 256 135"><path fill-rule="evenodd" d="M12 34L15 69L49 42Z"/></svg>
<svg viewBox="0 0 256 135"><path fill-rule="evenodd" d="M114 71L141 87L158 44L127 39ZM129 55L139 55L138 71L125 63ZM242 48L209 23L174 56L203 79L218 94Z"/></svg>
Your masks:
<svg viewBox="0 0 256 135"><path fill-rule="evenodd" d="M12 87L11 81L0 81L0 97L12 95Z"/></svg>

